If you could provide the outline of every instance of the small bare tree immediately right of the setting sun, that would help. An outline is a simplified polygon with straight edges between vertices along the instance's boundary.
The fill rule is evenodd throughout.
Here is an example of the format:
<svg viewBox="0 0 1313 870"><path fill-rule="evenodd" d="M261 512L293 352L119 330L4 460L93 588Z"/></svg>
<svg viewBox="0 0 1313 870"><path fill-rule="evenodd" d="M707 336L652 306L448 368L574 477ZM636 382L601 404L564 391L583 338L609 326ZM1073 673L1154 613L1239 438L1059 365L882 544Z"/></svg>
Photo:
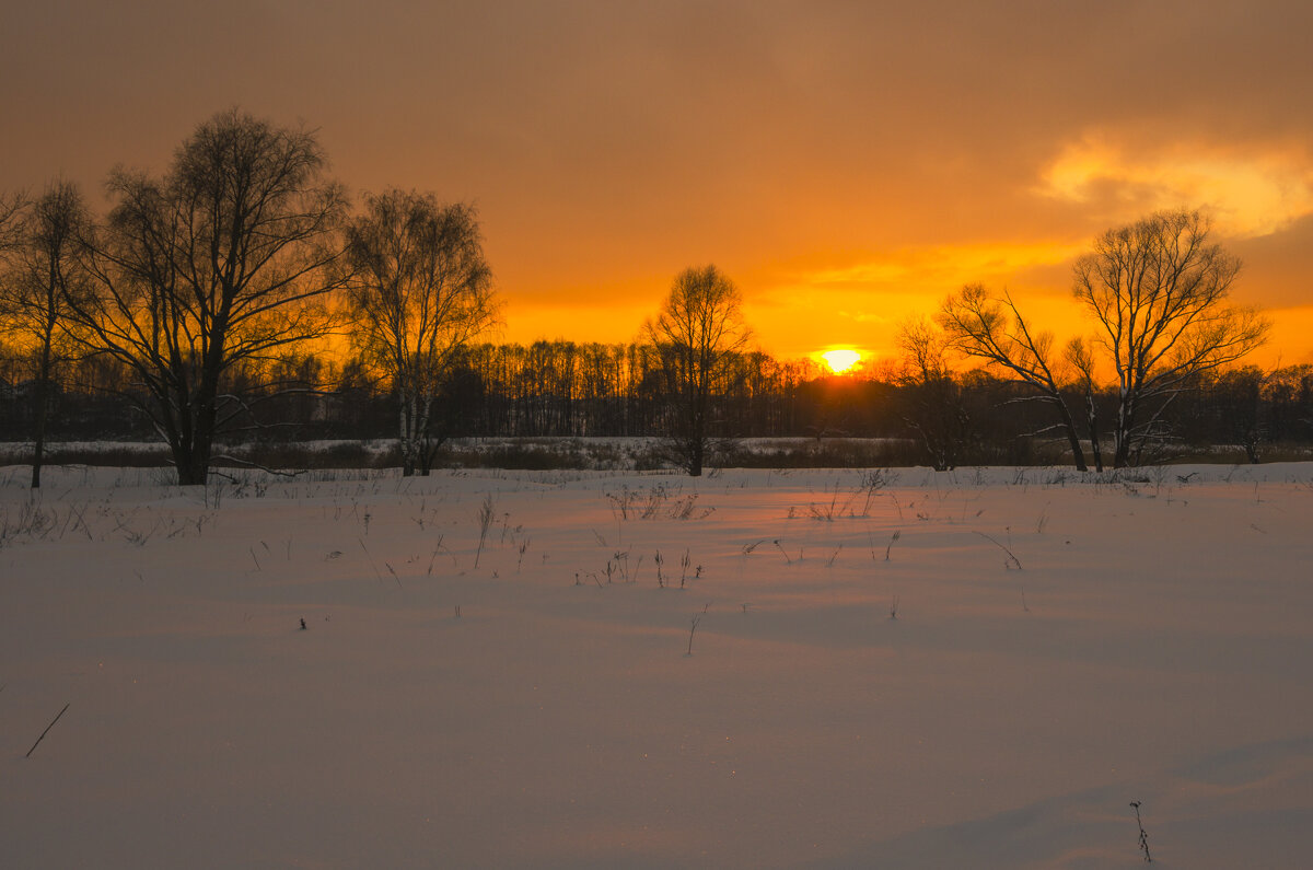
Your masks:
<svg viewBox="0 0 1313 870"><path fill-rule="evenodd" d="M935 470L951 470L961 460L972 423L945 357L948 336L924 319L913 319L902 325L897 340L903 422L916 434Z"/></svg>

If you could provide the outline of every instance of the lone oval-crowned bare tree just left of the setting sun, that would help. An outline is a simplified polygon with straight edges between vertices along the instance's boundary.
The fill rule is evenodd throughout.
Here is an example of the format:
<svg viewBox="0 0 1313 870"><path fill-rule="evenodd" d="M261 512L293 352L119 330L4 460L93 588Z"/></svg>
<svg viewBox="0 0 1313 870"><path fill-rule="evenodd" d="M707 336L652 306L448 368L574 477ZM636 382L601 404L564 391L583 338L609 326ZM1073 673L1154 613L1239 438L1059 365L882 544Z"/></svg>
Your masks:
<svg viewBox="0 0 1313 870"><path fill-rule="evenodd" d="M710 448L712 393L752 335L741 309L738 288L714 265L689 268L675 276L656 319L643 325L666 377L670 443L693 477L701 476Z"/></svg>

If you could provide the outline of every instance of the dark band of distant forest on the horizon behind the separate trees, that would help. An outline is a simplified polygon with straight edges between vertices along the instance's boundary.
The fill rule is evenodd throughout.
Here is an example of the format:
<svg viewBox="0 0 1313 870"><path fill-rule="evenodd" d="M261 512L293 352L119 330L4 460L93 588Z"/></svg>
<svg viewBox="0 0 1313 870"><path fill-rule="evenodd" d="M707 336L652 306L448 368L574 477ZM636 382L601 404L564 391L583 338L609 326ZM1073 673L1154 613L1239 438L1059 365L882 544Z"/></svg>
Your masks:
<svg viewBox="0 0 1313 870"><path fill-rule="evenodd" d="M436 403L433 430L444 438L591 438L668 434L668 381L642 344L536 342L465 348ZM20 354L0 347L0 440L24 442L32 431L32 381ZM738 438L886 439L852 464L932 464L924 444L948 438L949 464L1065 463L1065 442L1052 413L1024 384L985 369L953 373L934 397L924 385L884 372L829 375L811 361L735 355L712 398L710 428L721 463ZM1204 372L1173 400L1166 435L1141 463L1173 459L1260 461L1313 447L1313 367L1275 371L1243 367ZM66 363L51 397L51 440L158 440L131 401L129 372L104 356ZM332 363L305 355L255 371L234 369L225 390L247 396L249 411L221 436L278 446L306 440L394 439L395 393L360 361ZM264 393L264 400L261 400ZM1073 406L1085 402L1071 386ZM1113 389L1098 390L1103 419L1116 413ZM944 411L948 411L945 414ZM936 430L939 431L934 431ZM259 455L259 452L256 453ZM844 464L840 452L821 453Z"/></svg>

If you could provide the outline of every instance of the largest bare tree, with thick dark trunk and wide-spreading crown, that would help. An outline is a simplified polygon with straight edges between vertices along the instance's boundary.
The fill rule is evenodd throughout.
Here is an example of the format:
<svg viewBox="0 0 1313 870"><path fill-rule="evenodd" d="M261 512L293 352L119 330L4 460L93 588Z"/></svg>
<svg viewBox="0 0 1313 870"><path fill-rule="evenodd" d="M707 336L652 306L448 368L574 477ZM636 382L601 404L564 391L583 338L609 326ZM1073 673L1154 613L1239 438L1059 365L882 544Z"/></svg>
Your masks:
<svg viewBox="0 0 1313 870"><path fill-rule="evenodd" d="M179 484L204 484L215 435L249 410L226 375L330 327L345 195L314 133L236 109L201 124L163 177L117 170L108 188L109 221L88 239L97 293L76 321L133 372Z"/></svg>

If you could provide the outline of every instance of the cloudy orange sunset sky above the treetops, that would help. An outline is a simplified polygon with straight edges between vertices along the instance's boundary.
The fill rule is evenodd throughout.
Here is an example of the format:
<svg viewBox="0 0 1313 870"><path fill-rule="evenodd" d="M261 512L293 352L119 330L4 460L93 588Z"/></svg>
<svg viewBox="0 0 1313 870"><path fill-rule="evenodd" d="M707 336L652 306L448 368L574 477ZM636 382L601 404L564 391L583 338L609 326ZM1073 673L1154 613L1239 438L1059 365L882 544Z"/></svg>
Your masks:
<svg viewBox="0 0 1313 870"><path fill-rule="evenodd" d="M161 171L221 109L353 192L478 205L500 338L624 342L683 268L780 357L894 352L965 283L1090 331L1071 260L1201 208L1313 363L1313 4L98 0L0 11L0 191Z"/></svg>

